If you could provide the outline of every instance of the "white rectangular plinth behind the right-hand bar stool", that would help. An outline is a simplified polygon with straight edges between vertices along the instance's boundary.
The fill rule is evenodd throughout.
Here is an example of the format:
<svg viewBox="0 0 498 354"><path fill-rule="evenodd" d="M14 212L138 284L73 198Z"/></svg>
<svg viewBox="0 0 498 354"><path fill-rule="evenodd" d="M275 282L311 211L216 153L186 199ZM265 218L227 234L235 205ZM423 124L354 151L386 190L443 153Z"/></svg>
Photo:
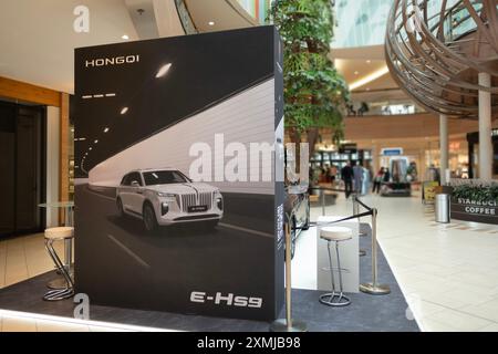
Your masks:
<svg viewBox="0 0 498 354"><path fill-rule="evenodd" d="M331 290L331 274L329 266L329 253L326 250L326 241L320 239L320 230L326 227L328 222L341 220L346 217L319 217L317 227L317 288L318 290ZM329 226L340 226L350 228L353 231L353 238L347 241L339 242L339 253L341 257L342 281L344 292L356 293L360 287L360 222L357 219L352 219L343 222L332 223ZM335 277L335 289L339 290L339 273L335 256L335 242L331 243L332 262Z"/></svg>

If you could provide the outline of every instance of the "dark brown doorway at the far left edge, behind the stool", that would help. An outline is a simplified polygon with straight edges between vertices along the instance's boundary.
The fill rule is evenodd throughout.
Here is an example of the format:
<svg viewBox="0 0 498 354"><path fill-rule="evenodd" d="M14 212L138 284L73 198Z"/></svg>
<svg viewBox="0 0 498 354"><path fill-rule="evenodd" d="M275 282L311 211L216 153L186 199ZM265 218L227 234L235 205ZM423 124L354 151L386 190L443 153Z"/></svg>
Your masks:
<svg viewBox="0 0 498 354"><path fill-rule="evenodd" d="M42 231L46 196L46 110L0 100L0 239ZM31 188L25 188L31 186Z"/></svg>

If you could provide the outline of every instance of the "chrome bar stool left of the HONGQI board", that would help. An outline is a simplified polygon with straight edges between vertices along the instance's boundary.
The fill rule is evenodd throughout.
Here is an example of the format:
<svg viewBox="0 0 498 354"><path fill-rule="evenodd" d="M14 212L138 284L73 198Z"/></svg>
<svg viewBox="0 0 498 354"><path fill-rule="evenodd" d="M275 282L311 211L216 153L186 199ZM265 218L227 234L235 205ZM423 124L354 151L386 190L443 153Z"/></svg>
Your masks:
<svg viewBox="0 0 498 354"><path fill-rule="evenodd" d="M69 273L69 269L64 267L59 258L53 243L55 241L64 241L74 237L74 229L70 227L50 228L45 230L45 249L49 256L52 258L55 267L61 272L65 280L65 287L63 289L51 290L43 296L46 301L58 301L69 299L74 295L74 283Z"/></svg>

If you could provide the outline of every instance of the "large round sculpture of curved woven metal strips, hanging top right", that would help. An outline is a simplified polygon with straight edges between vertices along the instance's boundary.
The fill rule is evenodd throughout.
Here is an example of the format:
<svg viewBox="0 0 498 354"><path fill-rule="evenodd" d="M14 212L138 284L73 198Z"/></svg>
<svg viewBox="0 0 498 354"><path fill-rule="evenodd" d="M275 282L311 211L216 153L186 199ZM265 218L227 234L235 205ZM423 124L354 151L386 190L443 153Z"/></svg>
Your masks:
<svg viewBox="0 0 498 354"><path fill-rule="evenodd" d="M498 116L498 0L394 0L385 51L394 80L419 105L477 118L484 90ZM491 75L490 87L479 73Z"/></svg>

